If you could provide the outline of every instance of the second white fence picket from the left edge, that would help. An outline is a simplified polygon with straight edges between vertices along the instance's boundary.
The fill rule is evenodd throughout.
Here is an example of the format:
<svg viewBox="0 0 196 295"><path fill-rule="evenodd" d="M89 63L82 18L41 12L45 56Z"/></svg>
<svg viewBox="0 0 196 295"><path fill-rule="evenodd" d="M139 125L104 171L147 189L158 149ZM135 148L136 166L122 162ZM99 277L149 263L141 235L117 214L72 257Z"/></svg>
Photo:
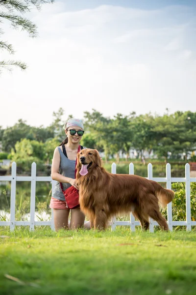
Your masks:
<svg viewBox="0 0 196 295"><path fill-rule="evenodd" d="M31 165L30 231L35 228L36 163Z"/></svg>

